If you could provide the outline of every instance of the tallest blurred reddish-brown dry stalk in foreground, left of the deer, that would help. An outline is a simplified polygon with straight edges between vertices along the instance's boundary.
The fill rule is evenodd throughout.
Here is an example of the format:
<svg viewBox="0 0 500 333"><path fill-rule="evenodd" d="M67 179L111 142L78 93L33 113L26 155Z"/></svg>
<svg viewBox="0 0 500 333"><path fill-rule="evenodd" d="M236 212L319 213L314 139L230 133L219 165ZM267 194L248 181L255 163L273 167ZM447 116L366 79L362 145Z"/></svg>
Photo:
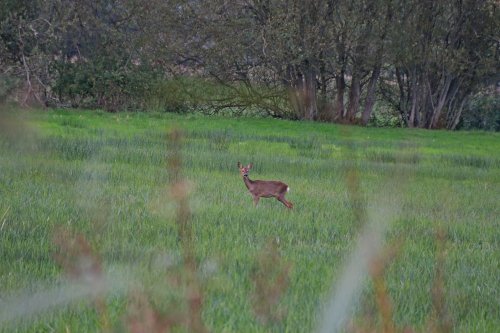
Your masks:
<svg viewBox="0 0 500 333"><path fill-rule="evenodd" d="M144 292L135 291L131 295L126 318L127 328L132 333L160 333L185 329L188 332L207 332L202 321L203 298L197 275L194 255L194 239L189 209L189 186L182 176L182 134L173 130L169 135L170 198L176 203L176 224L179 233L183 262L179 271L166 277L170 285L183 290L181 304L176 310L162 313L157 310ZM185 302L186 308L184 309ZM181 310L179 310L181 309Z"/></svg>

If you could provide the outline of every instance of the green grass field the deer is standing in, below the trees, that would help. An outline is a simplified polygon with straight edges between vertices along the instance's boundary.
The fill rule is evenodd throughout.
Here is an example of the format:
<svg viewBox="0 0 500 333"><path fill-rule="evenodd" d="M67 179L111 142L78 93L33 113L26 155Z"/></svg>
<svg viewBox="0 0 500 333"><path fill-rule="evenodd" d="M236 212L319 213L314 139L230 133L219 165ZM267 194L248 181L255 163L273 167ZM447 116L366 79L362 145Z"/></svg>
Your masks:
<svg viewBox="0 0 500 333"><path fill-rule="evenodd" d="M212 332L316 331L373 220L383 248L399 245L378 279L386 292L363 279L348 328L382 330L383 296L398 330L500 327L498 133L10 113L0 119L0 331L139 332L153 310L195 316L195 291ZM169 191L172 128L183 132L195 269L183 264ZM254 208L238 161L253 162L252 179L286 182L294 209ZM95 262L106 279L97 293Z"/></svg>

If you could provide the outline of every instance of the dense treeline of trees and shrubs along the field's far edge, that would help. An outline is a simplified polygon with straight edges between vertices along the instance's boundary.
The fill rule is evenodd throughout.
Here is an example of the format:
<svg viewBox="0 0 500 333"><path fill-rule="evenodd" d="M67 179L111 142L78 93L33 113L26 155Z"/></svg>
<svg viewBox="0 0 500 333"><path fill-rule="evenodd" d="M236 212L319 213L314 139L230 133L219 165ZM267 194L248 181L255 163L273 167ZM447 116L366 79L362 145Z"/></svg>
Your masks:
<svg viewBox="0 0 500 333"><path fill-rule="evenodd" d="M495 0L0 6L0 97L22 104L362 124L381 105L402 126L500 129Z"/></svg>

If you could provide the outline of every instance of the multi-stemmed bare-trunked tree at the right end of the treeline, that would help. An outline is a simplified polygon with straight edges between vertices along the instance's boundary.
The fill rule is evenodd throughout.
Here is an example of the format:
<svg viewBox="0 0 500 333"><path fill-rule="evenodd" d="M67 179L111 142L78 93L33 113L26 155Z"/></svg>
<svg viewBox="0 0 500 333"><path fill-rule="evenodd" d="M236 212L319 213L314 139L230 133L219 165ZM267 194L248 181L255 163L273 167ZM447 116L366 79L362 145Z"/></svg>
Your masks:
<svg viewBox="0 0 500 333"><path fill-rule="evenodd" d="M390 37L408 127L454 129L468 97L498 72L493 1L400 1ZM403 36L406 36L403 40ZM495 69L496 67L496 69Z"/></svg>

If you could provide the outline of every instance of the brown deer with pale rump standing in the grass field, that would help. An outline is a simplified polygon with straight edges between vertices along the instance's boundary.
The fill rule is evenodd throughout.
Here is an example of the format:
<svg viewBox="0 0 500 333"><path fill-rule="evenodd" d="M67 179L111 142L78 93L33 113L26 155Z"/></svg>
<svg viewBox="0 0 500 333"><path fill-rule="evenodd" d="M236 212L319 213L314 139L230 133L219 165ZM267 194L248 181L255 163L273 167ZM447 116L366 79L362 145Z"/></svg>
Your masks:
<svg viewBox="0 0 500 333"><path fill-rule="evenodd" d="M285 194L290 189L288 185L276 180L251 180L248 178L248 172L252 168L252 165L253 164L250 163L244 167L238 162L238 169L240 169L241 175L243 176L243 182L253 196L254 205L257 206L260 198L275 197L287 208L291 209L293 204L285 199Z"/></svg>

